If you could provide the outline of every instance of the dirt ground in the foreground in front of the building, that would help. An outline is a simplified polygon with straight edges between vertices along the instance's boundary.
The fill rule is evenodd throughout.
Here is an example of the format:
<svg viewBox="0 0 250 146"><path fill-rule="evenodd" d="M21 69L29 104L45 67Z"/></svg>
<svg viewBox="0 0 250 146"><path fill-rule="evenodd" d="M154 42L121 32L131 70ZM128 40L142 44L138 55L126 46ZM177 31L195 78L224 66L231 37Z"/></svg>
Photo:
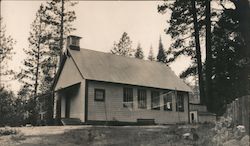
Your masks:
<svg viewBox="0 0 250 146"><path fill-rule="evenodd" d="M198 139L183 134L194 128ZM20 127L0 136L0 146L210 146L211 126L44 126Z"/></svg>

